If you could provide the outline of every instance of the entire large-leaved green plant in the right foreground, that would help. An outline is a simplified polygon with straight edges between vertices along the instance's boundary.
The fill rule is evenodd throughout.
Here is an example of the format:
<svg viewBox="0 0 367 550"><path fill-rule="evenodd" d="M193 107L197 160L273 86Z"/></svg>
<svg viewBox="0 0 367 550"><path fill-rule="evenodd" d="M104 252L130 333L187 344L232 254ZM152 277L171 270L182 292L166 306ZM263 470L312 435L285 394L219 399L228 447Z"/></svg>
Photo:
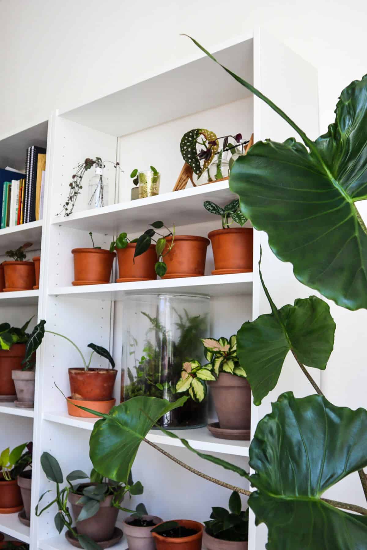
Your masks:
<svg viewBox="0 0 367 550"><path fill-rule="evenodd" d="M367 228L355 202L367 199L367 76L342 91L335 123L313 141L269 98L223 68L286 120L305 144L293 138L284 143L259 141L234 163L229 186L239 195L243 214L255 228L268 234L270 248L280 260L293 264L299 281L339 306L349 310L366 308ZM245 361L255 404L276 386L289 351L316 395L295 398L289 391L272 403L272 412L260 420L250 444L249 466L255 472L252 475L228 461L193 449L185 439L180 441L201 458L249 480L254 491L230 486L199 472L209 481L249 496L256 525L264 522L268 528L268 550L365 548L367 509L322 496L338 481L358 471L367 499L367 477L363 471L367 466L367 411L330 403L305 368L326 368L335 334L329 306L310 296L277 309L262 277L261 283L271 313L245 322L237 334L239 361L241 365ZM104 475L127 479L139 445L146 441L152 425L167 409L182 405L185 399L168 404L165 400L140 397L129 401L129 415L125 403L114 409L113 417L100 414L102 419L90 438L94 466ZM135 421L134 412L140 415L141 422ZM116 445L117 419L120 454ZM176 433L163 431L169 437L179 438ZM109 439L113 443L106 444Z"/></svg>

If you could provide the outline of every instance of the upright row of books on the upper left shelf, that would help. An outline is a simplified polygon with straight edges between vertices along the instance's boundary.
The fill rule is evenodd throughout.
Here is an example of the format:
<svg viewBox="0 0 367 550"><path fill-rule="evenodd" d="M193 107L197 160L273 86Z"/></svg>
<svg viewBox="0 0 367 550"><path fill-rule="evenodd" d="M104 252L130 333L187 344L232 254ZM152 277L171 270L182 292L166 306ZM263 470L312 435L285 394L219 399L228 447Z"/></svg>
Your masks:
<svg viewBox="0 0 367 550"><path fill-rule="evenodd" d="M25 174L0 168L0 228L20 226L42 219L46 149L27 149Z"/></svg>

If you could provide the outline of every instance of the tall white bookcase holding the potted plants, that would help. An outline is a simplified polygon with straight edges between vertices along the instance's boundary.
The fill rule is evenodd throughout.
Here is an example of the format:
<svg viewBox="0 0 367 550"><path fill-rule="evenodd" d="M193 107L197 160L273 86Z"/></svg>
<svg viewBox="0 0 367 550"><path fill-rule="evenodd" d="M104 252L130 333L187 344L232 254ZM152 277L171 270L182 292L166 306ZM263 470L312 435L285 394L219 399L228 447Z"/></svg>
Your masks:
<svg viewBox="0 0 367 550"><path fill-rule="evenodd" d="M306 134L317 134L317 74L302 58L257 31L244 35L242 40L212 47L211 51L284 108ZM210 94L207 94L208 82L212 83ZM40 290L0 293L4 320L9 318L13 324L20 324L25 317L35 313L39 320L46 319L46 328L69 335L82 351L86 351L89 342L109 348L118 370L115 392L118 403L126 295L209 295L211 334L229 336L237 332L243 322L269 312L258 276L260 244L263 249L262 271L276 303L293 303L294 298L309 295L309 290L295 280L291 265L278 261L269 250L266 235L256 231L253 273L212 276L213 259L209 246L204 277L90 287L73 287L71 284L73 257L70 251L72 248L90 246L89 231L94 233L99 246L108 248L119 232L126 231L135 237L157 219L162 219L168 226L176 223L177 234L206 235L220 227L219 218L207 213L202 202L212 200L220 205L229 202L233 195L228 182L198 188L188 184L187 189L172 192L183 165L179 140L185 131L209 128L217 135L241 131L244 137L254 132L255 141L270 136L281 141L294 135L286 123L210 59L202 56L190 42L188 57L177 59L161 74L154 74L152 69L152 74L128 89L96 98L84 106L70 106L67 112L58 113L56 109L57 106L47 126L43 222L28 224L28 228L22 226L0 230L0 252L12 248L10 244L23 244L25 240L39 244ZM45 126L42 128L44 131ZM26 135L14 132L14 136L0 138L0 158L2 146L7 152L9 144L16 148L23 147L29 136L28 130L24 130ZM19 135L23 137L20 139ZM101 156L103 160L117 160L124 170L123 174L116 174L113 167L106 167L112 204L98 211L85 210L90 175L86 174L73 215L67 218L57 216L67 197L75 166L83 158L95 156ZM18 150L15 157L20 158ZM136 166L143 169L150 164L154 164L163 174L160 195L131 202L129 174ZM115 275L113 273L113 281ZM31 528L26 531L17 515L14 518L0 516L0 531L30 542L31 550L71 548L64 533L58 535L54 527L56 509L50 508L40 518L35 516L34 509L40 494L54 488L41 470L42 452L56 456L64 476L74 469L91 469L88 443L95 420L69 416L65 401L54 386L57 383L63 392L69 391L67 368L77 366L77 361L72 346L46 334L37 352L34 411L15 410L11 404L0 404L0 429L2 433L9 434L6 444L15 446L26 440L34 441ZM293 389L298 395L305 391L301 376L302 373L298 375L293 366L286 362L275 392L259 408L251 408L251 435L258 420L269 412L270 401L283 390ZM210 414L214 419L213 410ZM249 441L216 439L206 428L178 433L195 449L215 453L249 468ZM212 477L249 488L249 483L234 472L201 460L183 448L178 440L160 431L152 430L147 438ZM144 494L138 497L138 502L143 501L151 513L167 520L187 517L204 521L209 518L213 505L226 507L228 503L227 489L180 469L146 444L141 445L136 456L133 475L144 485ZM177 495L180 497L177 498ZM131 504L134 505L134 502L136 499ZM246 499L243 502L245 505ZM265 542L265 528L255 529L254 517L250 514L249 550L263 550ZM120 542L115 548L125 550L126 542Z"/></svg>

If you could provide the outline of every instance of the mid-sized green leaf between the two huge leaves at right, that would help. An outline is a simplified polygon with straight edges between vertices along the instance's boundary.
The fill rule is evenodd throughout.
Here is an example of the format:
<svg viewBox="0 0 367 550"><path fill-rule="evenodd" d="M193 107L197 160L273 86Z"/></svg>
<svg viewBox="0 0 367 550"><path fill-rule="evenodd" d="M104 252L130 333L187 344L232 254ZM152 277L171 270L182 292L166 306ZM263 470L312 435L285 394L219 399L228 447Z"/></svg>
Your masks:
<svg viewBox="0 0 367 550"><path fill-rule="evenodd" d="M245 366L255 405L260 405L275 388L289 350L303 365L324 370L333 349L336 327L324 300L310 296L278 310L261 271L260 280L272 312L244 323L237 333L237 355L240 365Z"/></svg>

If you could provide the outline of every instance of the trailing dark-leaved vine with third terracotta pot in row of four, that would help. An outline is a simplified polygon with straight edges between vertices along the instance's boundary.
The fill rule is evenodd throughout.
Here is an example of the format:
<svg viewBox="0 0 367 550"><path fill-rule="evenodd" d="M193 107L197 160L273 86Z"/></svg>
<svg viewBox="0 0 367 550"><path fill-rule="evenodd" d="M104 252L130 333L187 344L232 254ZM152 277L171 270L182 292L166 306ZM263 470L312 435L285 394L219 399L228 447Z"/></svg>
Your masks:
<svg viewBox="0 0 367 550"><path fill-rule="evenodd" d="M144 254L153 240L156 243L155 271L158 276L163 279L176 279L204 275L208 239L195 235L176 235L174 226L171 231L161 221L151 223L150 226L154 229L147 229L136 241L134 259ZM167 235L156 231L162 228L167 229ZM154 239L155 235L156 239Z"/></svg>

